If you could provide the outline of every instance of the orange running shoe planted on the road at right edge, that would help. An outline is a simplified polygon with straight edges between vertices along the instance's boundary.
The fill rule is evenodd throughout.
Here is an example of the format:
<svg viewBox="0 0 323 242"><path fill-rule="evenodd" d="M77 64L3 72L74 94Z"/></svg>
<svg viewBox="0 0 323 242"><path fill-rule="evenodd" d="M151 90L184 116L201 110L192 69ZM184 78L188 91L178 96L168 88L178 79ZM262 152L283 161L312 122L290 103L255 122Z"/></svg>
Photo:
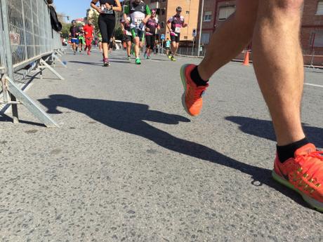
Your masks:
<svg viewBox="0 0 323 242"><path fill-rule="evenodd" d="M294 158L284 163L280 163L276 156L272 177L297 191L310 206L323 212L323 152L318 152L314 144L297 149Z"/></svg>

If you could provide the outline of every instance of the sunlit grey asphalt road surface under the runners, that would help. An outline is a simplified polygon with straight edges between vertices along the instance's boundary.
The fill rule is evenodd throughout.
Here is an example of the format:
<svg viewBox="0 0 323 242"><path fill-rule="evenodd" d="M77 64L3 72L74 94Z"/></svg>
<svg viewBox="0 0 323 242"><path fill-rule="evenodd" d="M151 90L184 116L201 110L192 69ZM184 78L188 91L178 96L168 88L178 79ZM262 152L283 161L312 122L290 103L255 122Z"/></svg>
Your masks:
<svg viewBox="0 0 323 242"><path fill-rule="evenodd" d="M322 214L271 178L275 135L253 69L211 79L202 115L181 107L178 69L68 52L68 69L27 90L60 128L20 107L0 116L3 241L320 241ZM307 82L323 85L322 73ZM305 86L303 122L323 147L323 88ZM321 134L321 135L318 135Z"/></svg>

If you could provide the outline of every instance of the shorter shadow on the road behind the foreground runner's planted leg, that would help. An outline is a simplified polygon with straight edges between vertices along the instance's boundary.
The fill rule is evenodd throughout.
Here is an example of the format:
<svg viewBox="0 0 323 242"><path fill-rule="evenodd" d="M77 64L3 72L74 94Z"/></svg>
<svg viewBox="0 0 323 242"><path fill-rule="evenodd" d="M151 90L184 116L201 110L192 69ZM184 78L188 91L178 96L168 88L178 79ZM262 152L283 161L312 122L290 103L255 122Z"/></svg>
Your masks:
<svg viewBox="0 0 323 242"><path fill-rule="evenodd" d="M272 122L261 119L251 119L242 116L228 116L225 118L228 121L239 124L240 130L249 135L263 137L268 140L276 140ZM303 129L308 137L308 140L319 148L323 148L323 128L307 126L303 123Z"/></svg>

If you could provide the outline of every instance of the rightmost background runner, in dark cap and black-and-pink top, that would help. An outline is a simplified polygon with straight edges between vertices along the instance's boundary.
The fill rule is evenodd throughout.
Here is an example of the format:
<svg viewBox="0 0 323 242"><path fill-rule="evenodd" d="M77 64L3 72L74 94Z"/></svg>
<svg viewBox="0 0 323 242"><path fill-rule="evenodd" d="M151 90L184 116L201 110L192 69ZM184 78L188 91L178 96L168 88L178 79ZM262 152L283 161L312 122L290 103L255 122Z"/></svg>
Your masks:
<svg viewBox="0 0 323 242"><path fill-rule="evenodd" d="M180 43L180 29L182 29L182 27L187 27L184 17L181 16L180 13L182 13L182 8L177 7L176 15L173 15L173 17L169 18L167 21L167 27L169 28L169 32L171 32L171 60L173 61L176 61L174 55L176 55Z"/></svg>

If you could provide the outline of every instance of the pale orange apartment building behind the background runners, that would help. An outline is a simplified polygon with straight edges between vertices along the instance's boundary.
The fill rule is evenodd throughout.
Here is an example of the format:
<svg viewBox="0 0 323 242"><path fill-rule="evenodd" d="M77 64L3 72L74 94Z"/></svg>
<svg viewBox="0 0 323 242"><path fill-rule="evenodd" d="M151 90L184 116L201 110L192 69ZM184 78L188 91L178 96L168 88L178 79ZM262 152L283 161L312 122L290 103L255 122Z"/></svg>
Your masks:
<svg viewBox="0 0 323 242"><path fill-rule="evenodd" d="M197 29L199 2L200 0L144 0L150 9L157 10L157 18L161 25L160 34L165 34L169 37L169 30L166 27L167 20L176 14L176 8L181 6L183 8L182 15L188 27L182 29L180 33L180 41L182 43L192 42L193 29ZM214 1L214 0L213 0Z"/></svg>

